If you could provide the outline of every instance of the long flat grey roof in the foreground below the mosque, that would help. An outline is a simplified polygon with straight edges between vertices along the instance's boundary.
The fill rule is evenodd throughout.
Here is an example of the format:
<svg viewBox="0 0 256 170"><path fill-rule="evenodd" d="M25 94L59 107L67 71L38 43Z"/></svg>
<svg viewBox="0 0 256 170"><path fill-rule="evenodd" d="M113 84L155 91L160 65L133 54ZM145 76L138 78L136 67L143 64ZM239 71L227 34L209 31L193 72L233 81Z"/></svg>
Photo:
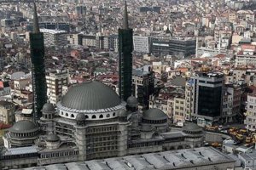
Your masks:
<svg viewBox="0 0 256 170"><path fill-rule="evenodd" d="M204 165L234 162L236 160L212 148L201 147L186 150L169 150L164 152L143 154L137 156L122 156L102 160L76 161L63 164L54 164L44 167L28 169L68 169L76 170L131 170L131 169L179 169L200 167ZM64 168L64 169L65 169Z"/></svg>

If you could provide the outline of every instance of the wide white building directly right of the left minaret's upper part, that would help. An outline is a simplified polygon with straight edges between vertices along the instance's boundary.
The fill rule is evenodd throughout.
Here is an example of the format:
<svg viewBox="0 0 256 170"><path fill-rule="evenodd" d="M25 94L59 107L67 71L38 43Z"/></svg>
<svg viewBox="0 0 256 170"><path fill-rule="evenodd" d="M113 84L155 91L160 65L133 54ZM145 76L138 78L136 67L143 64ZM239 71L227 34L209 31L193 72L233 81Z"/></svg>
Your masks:
<svg viewBox="0 0 256 170"><path fill-rule="evenodd" d="M40 29L44 33L44 44L46 46L67 45L67 31Z"/></svg>

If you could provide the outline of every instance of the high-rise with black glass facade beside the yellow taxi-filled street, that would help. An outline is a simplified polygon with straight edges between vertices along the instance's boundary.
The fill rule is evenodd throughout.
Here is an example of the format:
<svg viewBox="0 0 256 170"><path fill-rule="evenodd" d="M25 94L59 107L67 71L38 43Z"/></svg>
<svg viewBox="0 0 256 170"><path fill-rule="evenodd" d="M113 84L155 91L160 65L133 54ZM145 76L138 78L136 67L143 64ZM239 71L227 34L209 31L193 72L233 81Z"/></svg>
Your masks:
<svg viewBox="0 0 256 170"><path fill-rule="evenodd" d="M224 74L198 73L192 77L193 110L192 119L200 126L206 126L222 119Z"/></svg>

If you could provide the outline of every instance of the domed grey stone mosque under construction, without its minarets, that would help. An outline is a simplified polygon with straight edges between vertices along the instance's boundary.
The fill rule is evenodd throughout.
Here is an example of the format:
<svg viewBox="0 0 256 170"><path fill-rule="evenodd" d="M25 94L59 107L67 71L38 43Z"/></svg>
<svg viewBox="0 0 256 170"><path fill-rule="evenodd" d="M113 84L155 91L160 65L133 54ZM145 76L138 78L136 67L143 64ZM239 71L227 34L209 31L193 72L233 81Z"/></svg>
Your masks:
<svg viewBox="0 0 256 170"><path fill-rule="evenodd" d="M172 130L159 109L139 112L137 99L119 99L102 82L71 88L56 105L46 103L34 124L16 122L3 136L1 168L43 166L201 147L204 132L195 123Z"/></svg>

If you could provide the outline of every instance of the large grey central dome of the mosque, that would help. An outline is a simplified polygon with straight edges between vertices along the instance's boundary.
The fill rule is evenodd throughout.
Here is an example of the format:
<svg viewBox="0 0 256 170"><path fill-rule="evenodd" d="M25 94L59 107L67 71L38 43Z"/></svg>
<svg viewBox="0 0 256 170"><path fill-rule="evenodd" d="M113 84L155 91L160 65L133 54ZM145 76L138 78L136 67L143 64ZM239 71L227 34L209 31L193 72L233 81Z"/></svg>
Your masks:
<svg viewBox="0 0 256 170"><path fill-rule="evenodd" d="M68 90L61 105L77 110L101 110L121 104L118 94L102 82L83 82Z"/></svg>

